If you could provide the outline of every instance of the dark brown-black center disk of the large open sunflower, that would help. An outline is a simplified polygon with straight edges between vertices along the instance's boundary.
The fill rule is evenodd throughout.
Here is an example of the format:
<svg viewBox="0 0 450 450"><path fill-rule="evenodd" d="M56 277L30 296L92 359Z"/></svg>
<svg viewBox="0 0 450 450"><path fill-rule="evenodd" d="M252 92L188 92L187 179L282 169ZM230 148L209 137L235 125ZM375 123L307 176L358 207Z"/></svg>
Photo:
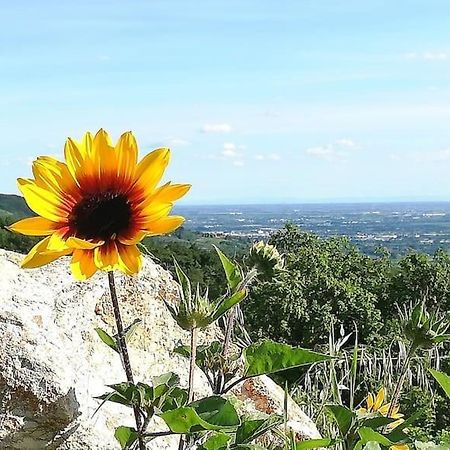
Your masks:
<svg viewBox="0 0 450 450"><path fill-rule="evenodd" d="M82 239L108 241L126 231L131 222L128 198L116 192L101 192L84 197L73 209L69 226Z"/></svg>

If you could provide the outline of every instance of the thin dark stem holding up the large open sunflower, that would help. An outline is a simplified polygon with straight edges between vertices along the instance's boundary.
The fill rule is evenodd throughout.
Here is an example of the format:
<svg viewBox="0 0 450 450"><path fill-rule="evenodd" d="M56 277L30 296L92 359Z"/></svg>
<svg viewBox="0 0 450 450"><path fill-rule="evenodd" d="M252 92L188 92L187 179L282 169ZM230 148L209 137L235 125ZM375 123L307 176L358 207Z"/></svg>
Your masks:
<svg viewBox="0 0 450 450"><path fill-rule="evenodd" d="M113 305L114 318L116 319L117 336L119 351L122 359L123 368L127 376L128 383L134 384L133 371L131 369L130 357L128 355L127 342L125 340L124 328L122 323L122 316L120 314L119 301L117 300L116 283L114 281L113 271L108 272L109 291L111 293L111 301ZM142 439L142 420L141 412L137 406L133 406L134 418L136 420L136 429L138 432L139 450L145 450L144 440Z"/></svg>

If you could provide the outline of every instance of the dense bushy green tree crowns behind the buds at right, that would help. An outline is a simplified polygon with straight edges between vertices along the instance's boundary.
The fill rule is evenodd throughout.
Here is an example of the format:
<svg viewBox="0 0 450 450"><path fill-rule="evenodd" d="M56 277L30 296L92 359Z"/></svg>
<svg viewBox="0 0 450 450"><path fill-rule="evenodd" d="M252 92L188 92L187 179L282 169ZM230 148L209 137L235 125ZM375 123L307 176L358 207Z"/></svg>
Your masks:
<svg viewBox="0 0 450 450"><path fill-rule="evenodd" d="M287 225L270 244L284 255L284 270L259 283L243 310L250 334L315 347L333 323L359 332L362 344L388 346L398 338L398 309L426 299L450 310L450 254L411 253L398 261L371 257L346 238L323 239Z"/></svg>

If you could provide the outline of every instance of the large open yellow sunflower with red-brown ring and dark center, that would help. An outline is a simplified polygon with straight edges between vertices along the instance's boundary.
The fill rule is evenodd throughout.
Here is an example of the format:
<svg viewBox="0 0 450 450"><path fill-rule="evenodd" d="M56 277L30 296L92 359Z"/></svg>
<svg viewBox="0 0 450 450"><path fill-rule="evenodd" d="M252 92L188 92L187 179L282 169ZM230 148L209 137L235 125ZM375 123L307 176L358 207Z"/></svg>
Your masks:
<svg viewBox="0 0 450 450"><path fill-rule="evenodd" d="M71 271L85 280L97 270L139 272L137 247L146 236L174 231L181 216L169 216L174 201L190 185L166 183L157 188L170 158L167 148L139 163L131 132L114 146L108 134L86 133L81 142L69 138L65 163L42 156L33 162L34 179L19 178L19 189L38 215L9 228L30 236L47 236L28 253L22 267L48 264L72 255Z"/></svg>

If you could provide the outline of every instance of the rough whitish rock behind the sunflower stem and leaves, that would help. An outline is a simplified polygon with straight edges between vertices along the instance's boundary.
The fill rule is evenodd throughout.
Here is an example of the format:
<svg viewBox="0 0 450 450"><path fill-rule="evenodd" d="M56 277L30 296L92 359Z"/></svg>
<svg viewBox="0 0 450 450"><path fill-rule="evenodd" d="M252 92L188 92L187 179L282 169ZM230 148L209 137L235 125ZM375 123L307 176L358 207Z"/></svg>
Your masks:
<svg viewBox="0 0 450 450"><path fill-rule="evenodd" d="M107 404L93 416L99 404L94 396L124 380L119 358L94 331L100 326L114 333L106 275L77 283L67 260L26 271L18 266L21 258L0 250L0 449L118 449L114 429L133 425L131 413ZM174 371L185 384L187 361L171 351L188 336L162 302L176 295L170 274L146 259L138 277L118 276L117 285L124 322L143 320L130 341L136 380ZM201 341L214 333L201 335ZM280 412L280 387L265 377L249 383L235 391L246 410ZM196 390L209 394L200 371ZM295 404L290 416L301 435L318 436ZM148 448L177 448L177 440L158 439Z"/></svg>

